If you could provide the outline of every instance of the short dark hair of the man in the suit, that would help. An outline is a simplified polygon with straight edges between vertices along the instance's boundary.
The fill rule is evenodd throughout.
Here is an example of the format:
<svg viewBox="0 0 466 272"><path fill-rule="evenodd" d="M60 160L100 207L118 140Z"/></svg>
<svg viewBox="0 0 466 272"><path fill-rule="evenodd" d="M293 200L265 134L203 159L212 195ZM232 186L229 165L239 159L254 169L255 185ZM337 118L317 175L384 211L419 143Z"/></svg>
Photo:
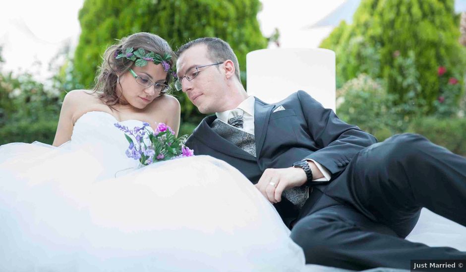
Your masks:
<svg viewBox="0 0 466 272"><path fill-rule="evenodd" d="M224 62L227 59L233 61L234 65L234 74L239 82L241 82L241 78L239 77L239 63L238 58L233 52L232 47L222 39L213 38L213 37L205 37L199 38L194 41L189 41L188 43L181 45L176 52L176 55L181 55L184 51L186 51L189 47L193 45L207 45L208 57L213 62Z"/></svg>

